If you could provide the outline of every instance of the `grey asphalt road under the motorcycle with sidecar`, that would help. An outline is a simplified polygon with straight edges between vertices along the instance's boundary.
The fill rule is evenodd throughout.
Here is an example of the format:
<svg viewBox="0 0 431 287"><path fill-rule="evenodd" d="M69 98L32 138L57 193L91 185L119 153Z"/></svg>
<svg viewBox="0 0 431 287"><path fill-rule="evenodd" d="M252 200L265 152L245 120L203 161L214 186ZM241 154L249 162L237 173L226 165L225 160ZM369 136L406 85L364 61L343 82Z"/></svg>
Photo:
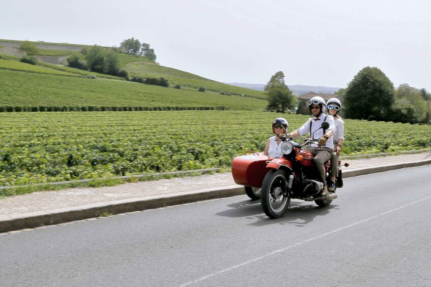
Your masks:
<svg viewBox="0 0 431 287"><path fill-rule="evenodd" d="M429 286L431 165L269 219L246 196L0 236L0 286Z"/></svg>

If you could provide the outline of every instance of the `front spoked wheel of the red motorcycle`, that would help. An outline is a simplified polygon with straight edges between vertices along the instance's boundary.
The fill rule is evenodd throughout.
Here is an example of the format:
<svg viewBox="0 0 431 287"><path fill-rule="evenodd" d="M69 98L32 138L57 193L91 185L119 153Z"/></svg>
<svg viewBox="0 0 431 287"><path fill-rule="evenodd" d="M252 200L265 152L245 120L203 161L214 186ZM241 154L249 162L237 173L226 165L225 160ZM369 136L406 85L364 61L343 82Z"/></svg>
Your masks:
<svg viewBox="0 0 431 287"><path fill-rule="evenodd" d="M279 218L289 208L291 198L285 195L288 181L283 170L271 170L262 183L261 204L266 215Z"/></svg>

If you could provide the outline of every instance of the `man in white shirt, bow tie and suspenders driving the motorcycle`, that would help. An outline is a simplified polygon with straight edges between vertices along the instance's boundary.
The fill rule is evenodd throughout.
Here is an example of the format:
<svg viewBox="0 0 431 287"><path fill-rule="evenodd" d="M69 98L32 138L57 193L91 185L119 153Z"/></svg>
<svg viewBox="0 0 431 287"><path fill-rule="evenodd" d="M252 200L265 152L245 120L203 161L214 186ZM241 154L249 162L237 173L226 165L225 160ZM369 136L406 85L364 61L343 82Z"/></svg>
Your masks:
<svg viewBox="0 0 431 287"><path fill-rule="evenodd" d="M309 118L299 129L288 134L288 137L297 138L305 134L310 134L310 138L319 138L319 143L313 143L306 147L312 154L314 154L314 165L319 171L320 180L324 184L321 195L328 194L328 185L326 183L325 166L324 164L331 159L334 143L332 142L332 135L335 131L334 117L325 115L326 103L322 97L313 97L308 102L313 117ZM320 129L323 121L329 123L329 128L325 131Z"/></svg>

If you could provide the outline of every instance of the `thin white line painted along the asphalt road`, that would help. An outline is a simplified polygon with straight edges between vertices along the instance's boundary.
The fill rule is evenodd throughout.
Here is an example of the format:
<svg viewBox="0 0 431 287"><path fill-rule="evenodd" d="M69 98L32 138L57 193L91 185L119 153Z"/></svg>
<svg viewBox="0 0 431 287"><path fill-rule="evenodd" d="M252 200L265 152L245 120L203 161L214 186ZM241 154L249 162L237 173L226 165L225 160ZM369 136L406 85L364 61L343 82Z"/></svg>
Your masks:
<svg viewBox="0 0 431 287"><path fill-rule="evenodd" d="M227 271L233 270L233 269L235 269L235 268L238 268L238 267L244 266L244 265L246 265L246 264L253 263L253 262L255 262L255 261L258 261L258 260L261 260L261 259L263 259L263 258L269 257L269 256L271 256L271 255L273 255L273 254L276 254L276 253L282 252L282 251L284 251L284 250L287 250L287 249L290 249L290 248L296 247L296 246L298 246L298 245L301 245L301 244L304 244L304 243L307 243L307 242L313 241L313 240L315 240L315 239L319 239L319 238L324 237L324 236L327 236L327 235L329 235L329 234L332 234L332 233L338 232L338 231L340 231L340 230L344 230L344 229L350 228L350 227L352 227L352 226L355 226L355 225L361 224L361 223L363 223L363 222L366 222L366 221L369 221L369 220L375 219L375 218L377 218L377 217L379 217L379 216L386 215L386 214L388 214L388 213L391 213L391 212L397 211L397 210L399 210L399 209L405 208L405 207L407 207L407 206L410 206L410 205L413 205L413 204L416 204L416 203L419 203L419 202L422 202L422 201L425 201L425 200L428 200L428 199L431 199L431 196L430 196L430 197L427 197L427 198L424 198L424 199L421 199L421 200L418 200L418 201L415 201L415 202L412 202L412 203L409 203L409 204L406 204L406 205L403 205L403 206L400 206L400 207L398 207L398 208L395 208L395 209L392 209L392 210L389 210L389 211L386 211L386 212L380 213L380 214L378 214L378 215L371 216L371 217L369 217L369 218L366 218L366 219L360 220L360 221L358 221L358 222L355 222L354 224L351 224L351 225L348 225L348 226L345 226L345 227L341 227L341 228L335 229L335 230L333 230L333 231L331 231L331 232L324 233L324 234L319 235L319 236L317 236L317 237L313 237L313 238L310 238L310 239L304 240L304 241L302 241L302 242L295 243L295 244L290 245L290 246L288 246L288 247L285 247L285 248L283 248L283 249L278 249L278 250L272 251L272 252L270 252L270 253L268 253L268 254L266 254L266 255L264 255L264 256L257 257L257 258L255 258L255 259L251 259L251 260L248 260L248 261L245 261L245 262L239 263L239 264L237 264L237 265L235 265L235 266L231 266L231 267L228 267L228 268L222 269L222 270L220 270L220 271L217 271L217 272L215 272L215 273L209 274L209 275L207 275L207 276L200 277L200 278L198 278L198 279L196 279L196 280L193 280L193 281L190 281L190 282L184 283L184 284L180 285L180 287L184 287L184 286L188 286L188 285L191 285L191 284L194 284L194 283L198 283L198 282L203 281L203 280L205 280L205 279L208 279L208 278L210 278L210 277L214 277L214 276L219 275L219 274L222 274L222 273L224 273L224 272L227 272Z"/></svg>

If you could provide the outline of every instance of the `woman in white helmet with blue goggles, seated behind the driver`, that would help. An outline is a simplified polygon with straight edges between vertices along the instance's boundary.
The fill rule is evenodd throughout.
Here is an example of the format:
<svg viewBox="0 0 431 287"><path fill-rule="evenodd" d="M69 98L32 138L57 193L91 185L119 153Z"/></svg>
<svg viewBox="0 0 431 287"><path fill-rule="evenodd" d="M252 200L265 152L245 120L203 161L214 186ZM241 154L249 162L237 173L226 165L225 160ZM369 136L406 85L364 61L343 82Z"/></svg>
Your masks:
<svg viewBox="0 0 431 287"><path fill-rule="evenodd" d="M328 108L328 113L334 117L336 129L332 140L334 142L334 152L331 157L331 181L328 183L328 190L332 192L335 189L335 177L338 176L338 156L341 152L341 146L344 141L344 122L342 118L338 115L341 110L341 102L337 98L329 99L326 102L326 107Z"/></svg>

